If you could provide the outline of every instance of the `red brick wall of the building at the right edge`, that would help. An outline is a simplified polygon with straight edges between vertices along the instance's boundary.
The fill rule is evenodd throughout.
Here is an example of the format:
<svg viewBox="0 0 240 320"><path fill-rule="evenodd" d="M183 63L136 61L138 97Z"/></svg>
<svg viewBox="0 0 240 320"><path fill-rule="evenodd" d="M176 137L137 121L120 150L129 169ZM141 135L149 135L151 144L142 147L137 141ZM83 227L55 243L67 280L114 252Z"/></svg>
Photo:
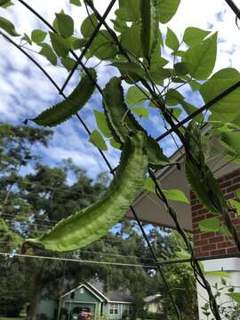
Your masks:
<svg viewBox="0 0 240 320"><path fill-rule="evenodd" d="M240 188L240 169L221 177L219 183L220 188L227 199L236 198L235 191ZM205 218L211 218L214 214L209 213L204 209L204 206L199 203L193 192L190 192L190 201L196 256L203 257L236 253L235 244L233 244L232 241L229 241L226 236L222 236L218 232L200 232L198 228L199 221L204 220ZM240 217L236 217L235 213L231 213L231 220L235 226L240 226Z"/></svg>

